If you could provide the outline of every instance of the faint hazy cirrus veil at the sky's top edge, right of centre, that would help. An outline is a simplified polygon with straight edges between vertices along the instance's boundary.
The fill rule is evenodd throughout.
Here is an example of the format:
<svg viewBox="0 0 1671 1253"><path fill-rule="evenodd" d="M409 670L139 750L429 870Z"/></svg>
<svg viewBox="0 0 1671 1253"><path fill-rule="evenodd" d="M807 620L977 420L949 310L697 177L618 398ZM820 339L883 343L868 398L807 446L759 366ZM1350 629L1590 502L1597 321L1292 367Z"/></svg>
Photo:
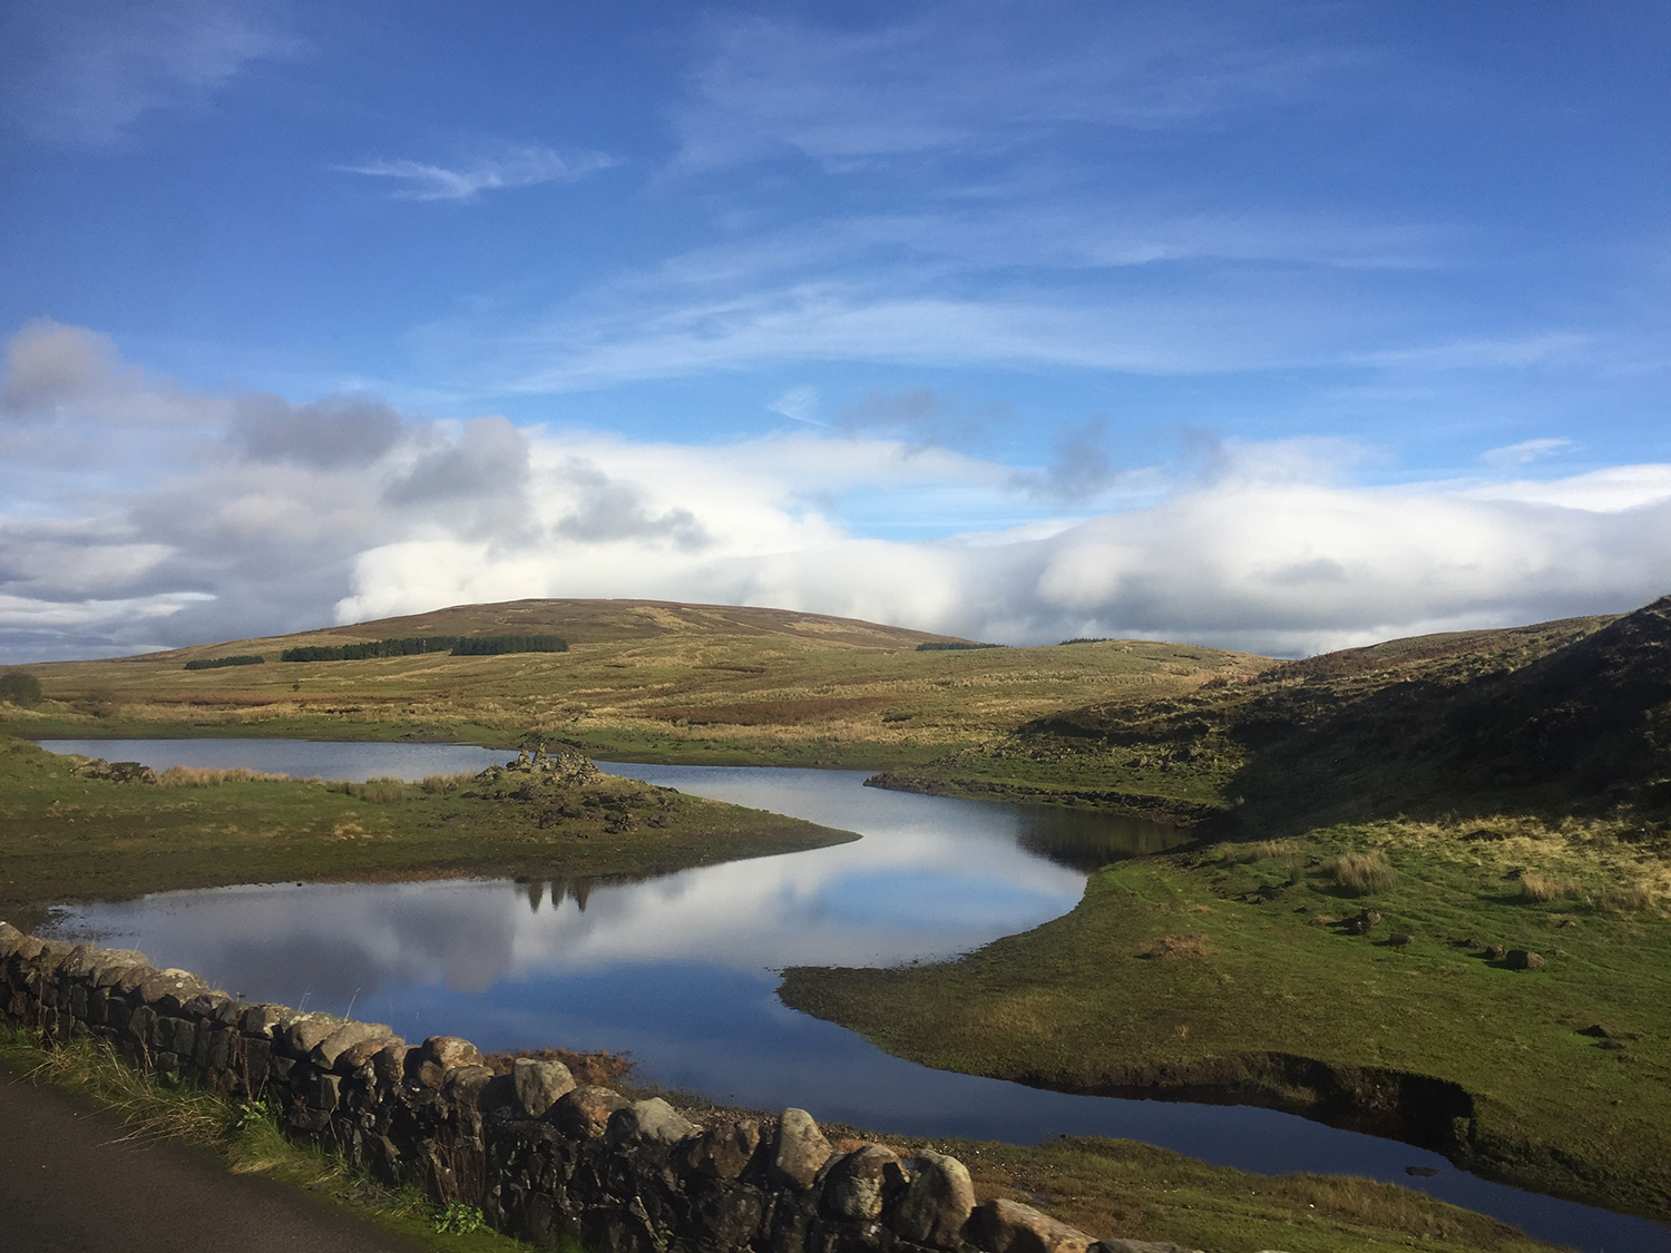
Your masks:
<svg viewBox="0 0 1671 1253"><path fill-rule="evenodd" d="M1223 8L937 3L879 28L750 17L717 22L680 162L780 154L852 167L993 150L1063 125L1160 129L1287 97L1342 53L1238 28ZM1058 25L1059 23L1059 25ZM1074 32L1063 47L1051 27Z"/></svg>

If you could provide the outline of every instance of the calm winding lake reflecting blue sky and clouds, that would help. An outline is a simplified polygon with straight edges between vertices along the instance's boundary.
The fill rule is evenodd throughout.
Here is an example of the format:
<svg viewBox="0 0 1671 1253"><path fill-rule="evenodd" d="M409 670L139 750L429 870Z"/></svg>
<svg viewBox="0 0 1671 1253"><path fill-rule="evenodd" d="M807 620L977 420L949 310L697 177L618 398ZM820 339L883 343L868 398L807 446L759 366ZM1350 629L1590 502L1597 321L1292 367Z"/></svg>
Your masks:
<svg viewBox="0 0 1671 1253"><path fill-rule="evenodd" d="M326 779L421 779L501 763L471 745L50 740L110 760ZM1088 870L1178 842L1155 824L919 797L862 772L610 765L692 795L862 835L638 882L262 884L65 909L55 934L144 951L257 1001L353 1012L408 1039L630 1053L638 1079L820 1121L1036 1144L1143 1139L1263 1173L1394 1181L1596 1253L1666 1250L1671 1230L1516 1188L1439 1154L1292 1114L1066 1096L932 1071L785 1007L777 972L968 952L1078 904ZM1439 1168L1432 1178L1409 1166Z"/></svg>

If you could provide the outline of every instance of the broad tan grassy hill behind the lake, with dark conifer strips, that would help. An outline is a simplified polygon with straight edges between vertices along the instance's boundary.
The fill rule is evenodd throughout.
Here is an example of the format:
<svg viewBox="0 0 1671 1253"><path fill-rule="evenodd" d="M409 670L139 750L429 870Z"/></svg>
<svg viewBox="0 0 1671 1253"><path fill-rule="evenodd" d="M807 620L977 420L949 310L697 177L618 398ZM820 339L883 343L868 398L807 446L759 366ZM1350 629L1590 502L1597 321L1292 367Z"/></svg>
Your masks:
<svg viewBox="0 0 1671 1253"><path fill-rule="evenodd" d="M550 632L566 653L286 663L299 645ZM566 738L627 760L897 767L1088 697L1171 697L1265 658L1111 642L917 652L946 637L851 618L658 601L533 600L110 662L32 665L20 735ZM184 670L264 655L264 665Z"/></svg>

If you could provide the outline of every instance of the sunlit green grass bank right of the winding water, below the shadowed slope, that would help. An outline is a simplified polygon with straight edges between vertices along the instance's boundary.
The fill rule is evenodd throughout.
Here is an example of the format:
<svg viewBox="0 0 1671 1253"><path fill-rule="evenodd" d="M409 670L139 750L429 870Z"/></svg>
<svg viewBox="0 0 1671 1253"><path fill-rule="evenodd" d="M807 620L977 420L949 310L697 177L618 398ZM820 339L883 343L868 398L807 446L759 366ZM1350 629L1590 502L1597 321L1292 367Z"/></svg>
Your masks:
<svg viewBox="0 0 1671 1253"><path fill-rule="evenodd" d="M1663 864L1606 827L1472 830L1337 827L1126 862L1071 914L961 961L792 969L782 997L929 1066L1066 1091L1265 1051L1449 1079L1475 1099L1484 1173L1671 1216L1671 924L1608 907L1664 900ZM1384 854L1390 885L1337 882L1325 864L1352 854ZM1581 895L1527 902L1529 867ZM1364 907L1384 916L1370 936L1335 926ZM1168 936L1210 956L1145 959ZM1614 1039L1581 1034L1594 1024Z"/></svg>

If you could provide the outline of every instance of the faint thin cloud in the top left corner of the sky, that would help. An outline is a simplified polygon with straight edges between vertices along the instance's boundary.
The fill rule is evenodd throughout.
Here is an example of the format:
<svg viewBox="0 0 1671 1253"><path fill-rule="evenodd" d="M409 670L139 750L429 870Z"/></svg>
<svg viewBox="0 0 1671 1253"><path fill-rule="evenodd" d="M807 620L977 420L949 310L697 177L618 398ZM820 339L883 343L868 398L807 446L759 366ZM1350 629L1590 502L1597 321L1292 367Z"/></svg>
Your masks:
<svg viewBox="0 0 1671 1253"><path fill-rule="evenodd" d="M159 109L201 107L301 43L266 5L221 0L0 5L0 119L47 144L105 147Z"/></svg>

